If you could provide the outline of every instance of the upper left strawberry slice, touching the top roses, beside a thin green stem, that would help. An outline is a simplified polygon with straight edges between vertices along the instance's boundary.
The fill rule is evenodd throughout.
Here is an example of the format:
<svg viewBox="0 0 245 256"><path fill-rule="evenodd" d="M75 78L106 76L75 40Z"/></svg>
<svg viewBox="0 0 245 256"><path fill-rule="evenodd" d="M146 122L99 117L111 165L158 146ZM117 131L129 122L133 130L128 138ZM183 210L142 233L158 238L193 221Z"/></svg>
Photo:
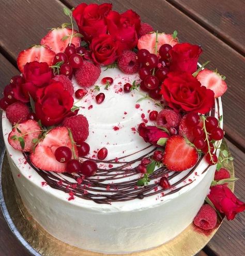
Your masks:
<svg viewBox="0 0 245 256"><path fill-rule="evenodd" d="M76 33L78 33L78 31L74 31L73 35ZM42 38L41 44L46 46L48 49L51 49L55 53L64 52L70 42L71 34L71 28L53 28ZM75 47L79 47L81 38L73 36L71 42L75 45Z"/></svg>

